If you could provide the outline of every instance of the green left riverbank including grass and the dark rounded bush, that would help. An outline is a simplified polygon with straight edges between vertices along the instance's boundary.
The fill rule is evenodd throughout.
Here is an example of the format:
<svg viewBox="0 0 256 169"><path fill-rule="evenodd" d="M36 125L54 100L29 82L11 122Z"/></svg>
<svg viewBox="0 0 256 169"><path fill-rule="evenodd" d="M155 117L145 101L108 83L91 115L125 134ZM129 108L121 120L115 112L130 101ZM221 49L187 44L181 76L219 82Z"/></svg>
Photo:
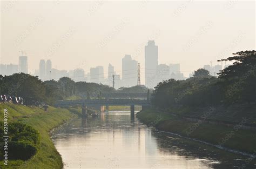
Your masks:
<svg viewBox="0 0 256 169"><path fill-rule="evenodd" d="M0 104L9 112L9 160L0 168L62 168L62 158L53 145L49 132L80 113L78 109L49 107L48 112L37 106ZM3 116L0 117L3 120ZM1 129L3 129L1 123ZM1 140L2 141L2 140ZM1 144L2 145L2 144ZM15 148L12 151L11 148ZM1 146L1 157L3 147ZM23 151L23 152L21 152Z"/></svg>

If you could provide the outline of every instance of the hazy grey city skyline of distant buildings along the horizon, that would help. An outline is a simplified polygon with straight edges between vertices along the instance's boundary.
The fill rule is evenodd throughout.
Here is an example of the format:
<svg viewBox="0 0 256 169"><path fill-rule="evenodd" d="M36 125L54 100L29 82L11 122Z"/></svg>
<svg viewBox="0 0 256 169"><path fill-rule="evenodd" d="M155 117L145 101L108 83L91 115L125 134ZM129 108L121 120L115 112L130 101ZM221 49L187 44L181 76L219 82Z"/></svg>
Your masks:
<svg viewBox="0 0 256 169"><path fill-rule="evenodd" d="M122 58L122 71L114 71L114 66L109 63L107 72L104 72L103 66L90 67L89 72L85 72L84 69L77 68L74 70L58 70L52 68L51 60L41 59L39 60L39 69L32 75L38 76L41 80L58 80L61 77L69 77L75 82L91 82L91 83L102 83L109 86L113 86L118 89L119 87L131 87L138 85L138 76L140 80L145 78L145 83L141 83L146 87L153 88L159 82L170 78L176 80L184 80L193 76L193 72L189 74L189 77L185 77L184 73L180 71L180 64L158 64L158 46L154 40L149 40L145 48L145 65L146 67L140 67L137 60L132 59L131 55L124 55ZM22 51L23 55L23 51ZM212 64L212 63L211 63ZM210 72L210 75L217 76L223 68L223 63L217 65L202 65L199 68L206 69ZM155 69L152 69L155 68ZM138 70L139 69L139 70ZM19 65L0 64L0 74L11 75L12 73L25 72L28 70L28 56L19 56ZM141 70L143 70L141 72ZM138 75L140 72L140 75ZM120 77L122 75L122 77ZM114 76L114 77L113 77ZM146 80L149 79L149 80Z"/></svg>

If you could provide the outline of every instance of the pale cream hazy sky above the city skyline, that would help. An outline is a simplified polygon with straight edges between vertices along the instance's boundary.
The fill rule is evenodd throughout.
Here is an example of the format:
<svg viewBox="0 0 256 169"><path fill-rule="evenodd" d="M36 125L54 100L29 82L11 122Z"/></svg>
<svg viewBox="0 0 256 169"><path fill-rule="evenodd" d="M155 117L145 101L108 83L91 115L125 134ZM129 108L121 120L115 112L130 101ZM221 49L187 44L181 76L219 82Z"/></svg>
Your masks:
<svg viewBox="0 0 256 169"><path fill-rule="evenodd" d="M40 59L51 59L57 69L87 73L102 65L107 72L111 63L120 71L125 54L144 68L149 39L158 45L159 63L180 63L187 76L232 52L255 49L255 2L1 3L1 62L17 64L24 50L31 73Z"/></svg>

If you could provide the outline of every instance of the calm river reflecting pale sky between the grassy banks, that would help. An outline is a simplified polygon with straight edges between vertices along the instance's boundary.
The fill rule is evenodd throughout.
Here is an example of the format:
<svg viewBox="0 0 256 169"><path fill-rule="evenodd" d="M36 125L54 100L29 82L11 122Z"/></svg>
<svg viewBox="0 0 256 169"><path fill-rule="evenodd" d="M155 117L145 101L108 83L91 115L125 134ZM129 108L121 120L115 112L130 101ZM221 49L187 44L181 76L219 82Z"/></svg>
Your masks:
<svg viewBox="0 0 256 169"><path fill-rule="evenodd" d="M156 131L127 111L72 119L52 140L64 168L239 168L248 158Z"/></svg>

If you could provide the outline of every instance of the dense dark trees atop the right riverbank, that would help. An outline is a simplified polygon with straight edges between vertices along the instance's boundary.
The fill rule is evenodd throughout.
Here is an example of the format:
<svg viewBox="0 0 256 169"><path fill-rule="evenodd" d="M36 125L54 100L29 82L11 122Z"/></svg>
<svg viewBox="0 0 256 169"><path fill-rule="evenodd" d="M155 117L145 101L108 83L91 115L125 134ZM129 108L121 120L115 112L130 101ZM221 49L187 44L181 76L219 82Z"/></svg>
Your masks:
<svg viewBox="0 0 256 169"><path fill-rule="evenodd" d="M232 61L218 77L199 69L186 80L164 80L152 94L157 107L207 106L233 103L252 103L256 100L256 53L241 51L233 57L218 60Z"/></svg>

